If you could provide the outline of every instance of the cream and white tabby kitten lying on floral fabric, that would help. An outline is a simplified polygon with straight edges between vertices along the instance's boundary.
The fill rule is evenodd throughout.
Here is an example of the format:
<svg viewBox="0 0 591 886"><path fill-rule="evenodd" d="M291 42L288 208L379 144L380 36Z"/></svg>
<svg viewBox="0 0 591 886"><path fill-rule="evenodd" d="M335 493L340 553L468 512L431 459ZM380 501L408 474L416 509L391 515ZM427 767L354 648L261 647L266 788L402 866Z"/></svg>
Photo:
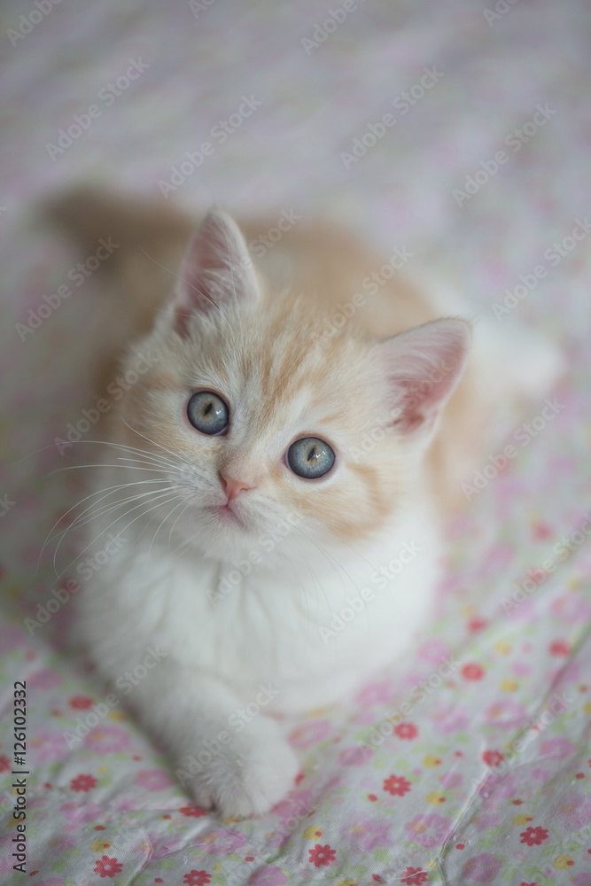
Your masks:
<svg viewBox="0 0 591 886"><path fill-rule="evenodd" d="M267 222L214 210L190 240L169 207L58 215L117 242L82 636L115 685L152 649L138 718L198 804L260 814L298 772L273 715L412 656L488 403L542 392L555 357L523 339L520 378L485 324L470 357L454 306L339 229L297 221L253 265Z"/></svg>

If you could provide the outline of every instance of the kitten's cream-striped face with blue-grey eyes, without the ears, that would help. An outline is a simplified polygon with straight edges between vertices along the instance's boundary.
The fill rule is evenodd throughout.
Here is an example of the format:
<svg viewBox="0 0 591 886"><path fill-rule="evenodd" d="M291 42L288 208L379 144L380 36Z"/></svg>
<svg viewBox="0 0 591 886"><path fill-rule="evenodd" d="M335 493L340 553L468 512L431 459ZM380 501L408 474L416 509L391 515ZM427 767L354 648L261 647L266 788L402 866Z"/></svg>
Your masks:
<svg viewBox="0 0 591 886"><path fill-rule="evenodd" d="M314 340L298 310L224 316L152 344L150 374L123 402L125 443L171 462L163 477L179 501L162 517L170 510L175 531L215 554L252 548L278 525L287 548L376 530L400 501L409 458L389 432L369 346Z"/></svg>

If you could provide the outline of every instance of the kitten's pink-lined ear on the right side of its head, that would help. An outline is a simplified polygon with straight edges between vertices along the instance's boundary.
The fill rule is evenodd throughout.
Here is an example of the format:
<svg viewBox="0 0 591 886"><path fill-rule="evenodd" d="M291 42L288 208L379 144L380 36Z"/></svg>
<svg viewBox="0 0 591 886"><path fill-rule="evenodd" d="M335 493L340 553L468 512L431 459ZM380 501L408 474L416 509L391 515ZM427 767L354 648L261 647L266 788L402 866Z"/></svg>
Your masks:
<svg viewBox="0 0 591 886"><path fill-rule="evenodd" d="M446 319L402 332L377 346L385 364L392 427L400 435L432 437L437 420L462 377L470 349L470 325Z"/></svg>

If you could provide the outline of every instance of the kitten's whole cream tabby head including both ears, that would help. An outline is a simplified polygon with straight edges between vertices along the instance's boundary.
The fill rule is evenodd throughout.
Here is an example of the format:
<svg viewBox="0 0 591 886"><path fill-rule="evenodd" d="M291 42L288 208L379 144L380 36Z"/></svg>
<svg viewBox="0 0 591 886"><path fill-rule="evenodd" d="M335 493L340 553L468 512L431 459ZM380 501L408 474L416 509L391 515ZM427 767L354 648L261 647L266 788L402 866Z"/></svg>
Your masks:
<svg viewBox="0 0 591 886"><path fill-rule="evenodd" d="M163 480L160 536L245 556L287 530L285 548L301 556L301 545L352 544L384 527L462 373L466 323L381 342L348 323L327 338L313 299L265 291L236 223L218 211L178 281L137 348L152 365L121 400L116 437L152 454L137 456L134 478L154 470L145 476Z"/></svg>

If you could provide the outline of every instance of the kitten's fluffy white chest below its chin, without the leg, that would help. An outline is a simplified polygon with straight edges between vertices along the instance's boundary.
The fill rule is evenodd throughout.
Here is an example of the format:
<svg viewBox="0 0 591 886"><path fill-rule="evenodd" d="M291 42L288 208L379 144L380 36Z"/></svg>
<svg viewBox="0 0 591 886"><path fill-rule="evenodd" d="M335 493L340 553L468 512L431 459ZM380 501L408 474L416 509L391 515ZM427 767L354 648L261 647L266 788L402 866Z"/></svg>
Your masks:
<svg viewBox="0 0 591 886"><path fill-rule="evenodd" d="M412 649L438 557L437 534L418 513L338 561L317 551L245 576L235 563L129 539L85 588L84 623L111 672L158 644L168 661L215 674L245 703L270 687L268 710L305 711L346 697Z"/></svg>

